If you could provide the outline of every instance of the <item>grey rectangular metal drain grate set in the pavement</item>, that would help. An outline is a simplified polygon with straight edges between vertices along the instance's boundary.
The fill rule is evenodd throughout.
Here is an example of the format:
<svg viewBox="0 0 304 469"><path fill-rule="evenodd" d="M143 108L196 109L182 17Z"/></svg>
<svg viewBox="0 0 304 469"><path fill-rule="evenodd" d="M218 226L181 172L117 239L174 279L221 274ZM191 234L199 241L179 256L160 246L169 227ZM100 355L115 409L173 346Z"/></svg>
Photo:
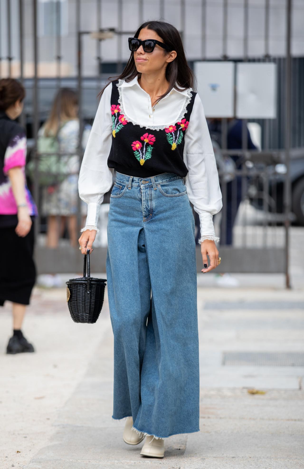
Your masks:
<svg viewBox="0 0 304 469"><path fill-rule="evenodd" d="M223 352L223 365L304 366L301 352Z"/></svg>

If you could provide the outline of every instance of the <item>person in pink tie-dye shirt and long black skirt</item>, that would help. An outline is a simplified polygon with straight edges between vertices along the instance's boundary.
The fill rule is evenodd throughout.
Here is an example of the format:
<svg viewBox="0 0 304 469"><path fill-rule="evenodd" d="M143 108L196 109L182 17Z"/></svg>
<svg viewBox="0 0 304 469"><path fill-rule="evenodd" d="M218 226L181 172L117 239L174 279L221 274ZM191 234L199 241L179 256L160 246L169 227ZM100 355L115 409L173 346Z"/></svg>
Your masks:
<svg viewBox="0 0 304 469"><path fill-rule="evenodd" d="M34 352L21 327L36 281L34 219L37 207L25 179L27 140L15 119L22 113L25 90L13 78L0 80L0 306L13 303L13 336L7 353Z"/></svg>

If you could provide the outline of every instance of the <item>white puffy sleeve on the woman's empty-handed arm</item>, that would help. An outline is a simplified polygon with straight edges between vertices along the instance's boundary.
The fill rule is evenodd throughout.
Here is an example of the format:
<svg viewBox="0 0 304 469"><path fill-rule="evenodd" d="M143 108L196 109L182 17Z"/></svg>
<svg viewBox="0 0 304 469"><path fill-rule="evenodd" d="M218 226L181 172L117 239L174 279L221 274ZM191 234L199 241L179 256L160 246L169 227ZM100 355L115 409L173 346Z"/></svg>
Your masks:
<svg viewBox="0 0 304 469"><path fill-rule="evenodd" d="M185 186L195 212L200 217L200 240L215 236L213 215L222 208L222 193L215 155L200 96L196 93L192 113L185 130L184 162L188 169Z"/></svg>

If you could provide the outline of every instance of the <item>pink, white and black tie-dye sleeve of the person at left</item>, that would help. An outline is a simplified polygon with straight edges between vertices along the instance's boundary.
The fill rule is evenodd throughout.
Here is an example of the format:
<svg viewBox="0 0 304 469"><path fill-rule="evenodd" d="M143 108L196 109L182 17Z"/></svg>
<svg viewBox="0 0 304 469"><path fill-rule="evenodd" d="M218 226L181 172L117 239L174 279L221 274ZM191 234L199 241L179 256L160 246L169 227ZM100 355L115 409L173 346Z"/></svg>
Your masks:
<svg viewBox="0 0 304 469"><path fill-rule="evenodd" d="M16 166L25 166L26 161L26 136L25 131L18 130L11 137L7 144L7 149L4 155L3 173L7 175L8 170Z"/></svg>

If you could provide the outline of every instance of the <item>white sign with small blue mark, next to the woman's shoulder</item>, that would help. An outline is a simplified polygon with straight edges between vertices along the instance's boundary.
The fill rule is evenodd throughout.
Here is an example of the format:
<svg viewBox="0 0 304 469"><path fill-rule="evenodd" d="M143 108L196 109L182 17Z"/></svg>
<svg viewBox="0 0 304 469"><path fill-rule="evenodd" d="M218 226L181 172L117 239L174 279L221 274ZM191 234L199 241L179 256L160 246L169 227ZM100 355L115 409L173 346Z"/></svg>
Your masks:
<svg viewBox="0 0 304 469"><path fill-rule="evenodd" d="M233 117L234 62L194 62L197 91L206 117Z"/></svg>

